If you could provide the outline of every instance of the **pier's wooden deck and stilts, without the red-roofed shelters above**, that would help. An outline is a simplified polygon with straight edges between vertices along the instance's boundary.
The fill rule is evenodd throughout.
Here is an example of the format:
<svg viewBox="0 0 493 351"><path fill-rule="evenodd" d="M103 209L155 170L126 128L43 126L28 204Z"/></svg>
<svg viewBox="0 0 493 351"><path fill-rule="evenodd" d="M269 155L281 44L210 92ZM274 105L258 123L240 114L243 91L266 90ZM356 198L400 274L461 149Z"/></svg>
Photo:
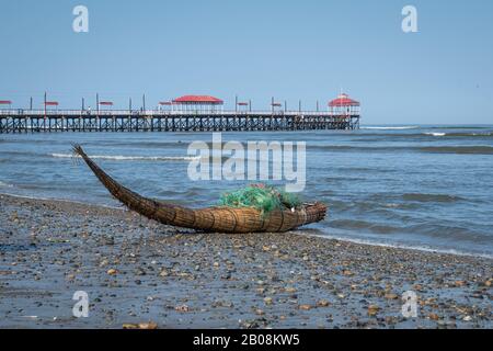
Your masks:
<svg viewBox="0 0 493 351"><path fill-rule="evenodd" d="M0 134L357 129L359 114L302 111L0 110Z"/></svg>

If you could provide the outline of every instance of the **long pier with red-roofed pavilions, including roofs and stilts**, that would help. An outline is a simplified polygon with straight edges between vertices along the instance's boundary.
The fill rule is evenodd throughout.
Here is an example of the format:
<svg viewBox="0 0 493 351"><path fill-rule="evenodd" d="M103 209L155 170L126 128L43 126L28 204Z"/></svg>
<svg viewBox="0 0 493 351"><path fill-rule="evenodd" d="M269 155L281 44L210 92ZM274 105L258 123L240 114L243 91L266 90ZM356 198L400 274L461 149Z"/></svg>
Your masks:
<svg viewBox="0 0 493 351"><path fill-rule="evenodd" d="M54 132L262 132L359 128L359 103L347 95L330 102L329 111L288 111L273 102L270 111L252 111L251 102L236 103L225 111L222 100L185 95L160 102L156 110L106 110L111 101L99 101L96 111L58 110L47 101L44 109L0 109L0 134ZM7 102L7 101L5 101ZM10 106L10 101L9 106ZM286 105L285 105L286 106Z"/></svg>

